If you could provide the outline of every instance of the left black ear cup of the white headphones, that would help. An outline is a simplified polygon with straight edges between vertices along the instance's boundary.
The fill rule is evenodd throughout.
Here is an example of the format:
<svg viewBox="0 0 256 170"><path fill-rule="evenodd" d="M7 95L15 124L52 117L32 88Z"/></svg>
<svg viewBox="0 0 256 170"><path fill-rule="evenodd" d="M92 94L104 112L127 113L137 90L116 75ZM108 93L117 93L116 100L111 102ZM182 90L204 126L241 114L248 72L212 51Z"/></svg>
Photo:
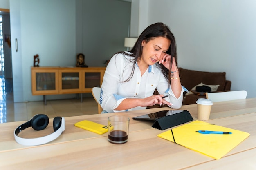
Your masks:
<svg viewBox="0 0 256 170"><path fill-rule="evenodd" d="M31 126L34 130L43 130L49 124L49 118L47 115L39 114L35 115L31 120Z"/></svg>

